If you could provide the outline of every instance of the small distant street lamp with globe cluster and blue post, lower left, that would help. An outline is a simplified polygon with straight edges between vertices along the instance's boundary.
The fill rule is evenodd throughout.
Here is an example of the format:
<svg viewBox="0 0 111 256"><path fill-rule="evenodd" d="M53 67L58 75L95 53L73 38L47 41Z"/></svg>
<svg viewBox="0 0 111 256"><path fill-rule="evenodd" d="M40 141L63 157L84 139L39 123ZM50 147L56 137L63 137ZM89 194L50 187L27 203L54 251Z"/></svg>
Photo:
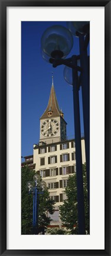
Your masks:
<svg viewBox="0 0 111 256"><path fill-rule="evenodd" d="M45 188L47 187L44 181L40 181L40 175L35 174L33 177L34 182L27 182L28 193L33 195L33 215L32 215L32 227L33 234L38 234L38 206L39 194L43 194Z"/></svg>

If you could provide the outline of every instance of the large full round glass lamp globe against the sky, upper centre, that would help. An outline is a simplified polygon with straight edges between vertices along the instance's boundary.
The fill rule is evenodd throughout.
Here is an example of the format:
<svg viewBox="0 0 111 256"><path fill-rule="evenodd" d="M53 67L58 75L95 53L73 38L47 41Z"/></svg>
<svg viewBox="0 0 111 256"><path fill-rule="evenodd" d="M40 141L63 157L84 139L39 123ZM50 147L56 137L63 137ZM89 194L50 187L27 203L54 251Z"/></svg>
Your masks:
<svg viewBox="0 0 111 256"><path fill-rule="evenodd" d="M54 59L65 58L73 47L73 36L66 27L54 25L44 31L41 37L43 53Z"/></svg>

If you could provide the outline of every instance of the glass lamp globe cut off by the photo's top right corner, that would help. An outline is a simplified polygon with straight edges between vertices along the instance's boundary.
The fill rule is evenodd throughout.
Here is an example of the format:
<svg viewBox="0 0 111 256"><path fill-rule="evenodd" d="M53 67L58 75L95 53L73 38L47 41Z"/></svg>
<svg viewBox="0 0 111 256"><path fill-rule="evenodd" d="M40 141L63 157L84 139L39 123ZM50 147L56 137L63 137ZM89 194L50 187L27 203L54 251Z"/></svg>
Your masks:
<svg viewBox="0 0 111 256"><path fill-rule="evenodd" d="M76 31L81 34L87 34L89 33L89 24L89 21L71 21L68 22L68 28L74 35L76 34Z"/></svg>

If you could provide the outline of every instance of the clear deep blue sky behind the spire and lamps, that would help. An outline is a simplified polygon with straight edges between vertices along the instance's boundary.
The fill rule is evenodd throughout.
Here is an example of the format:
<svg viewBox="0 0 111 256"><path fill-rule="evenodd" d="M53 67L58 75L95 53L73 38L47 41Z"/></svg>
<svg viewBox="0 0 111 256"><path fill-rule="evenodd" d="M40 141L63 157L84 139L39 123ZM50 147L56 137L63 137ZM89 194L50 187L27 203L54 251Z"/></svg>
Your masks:
<svg viewBox="0 0 111 256"><path fill-rule="evenodd" d="M33 144L40 138L40 116L45 111L54 72L54 88L58 105L67 122L67 137L74 137L73 88L64 80L64 66L53 68L41 55L41 37L52 25L66 22L21 22L21 155L31 155ZM73 37L73 48L67 57L79 54L79 38ZM81 133L83 134L83 112L80 89Z"/></svg>

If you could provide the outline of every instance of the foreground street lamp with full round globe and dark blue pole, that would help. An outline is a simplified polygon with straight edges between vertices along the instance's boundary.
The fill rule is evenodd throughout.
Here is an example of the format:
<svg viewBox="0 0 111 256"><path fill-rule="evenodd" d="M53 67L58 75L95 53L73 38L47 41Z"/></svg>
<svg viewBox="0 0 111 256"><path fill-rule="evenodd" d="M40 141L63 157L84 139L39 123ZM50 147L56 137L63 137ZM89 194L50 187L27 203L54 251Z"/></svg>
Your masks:
<svg viewBox="0 0 111 256"><path fill-rule="evenodd" d="M53 38L53 39L52 39ZM86 234L85 232L85 218L84 218L84 193L83 193L83 170L81 161L81 134L80 134L80 109L79 109L79 88L77 88L77 71L81 71L81 67L77 66L77 59L80 56L72 56L64 59L72 48L73 38L70 31L62 26L53 26L48 28L42 38L41 46L43 55L51 57L49 59L53 67L61 64L71 67L73 73L73 99L74 99L74 127L75 127L75 141L76 141L76 173L77 173L77 207L78 207L78 221L79 234Z"/></svg>

